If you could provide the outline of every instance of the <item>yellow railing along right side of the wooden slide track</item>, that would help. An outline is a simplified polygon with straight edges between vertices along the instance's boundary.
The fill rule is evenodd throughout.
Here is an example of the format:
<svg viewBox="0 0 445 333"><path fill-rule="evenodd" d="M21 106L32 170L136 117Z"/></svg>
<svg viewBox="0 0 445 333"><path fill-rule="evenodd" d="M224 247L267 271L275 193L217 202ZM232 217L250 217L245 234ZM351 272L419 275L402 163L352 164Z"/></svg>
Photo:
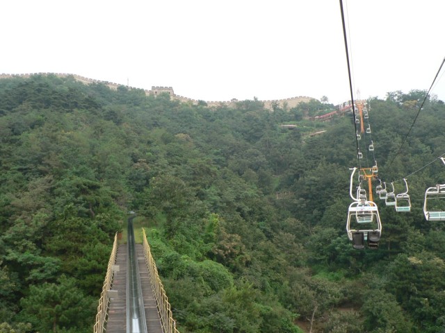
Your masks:
<svg viewBox="0 0 445 333"><path fill-rule="evenodd" d="M142 229L142 231L145 264L147 264L150 283L152 284L154 298L156 299L156 306L158 307L159 318L161 318L163 333L179 333L179 331L176 329L176 322L173 319L170 303L168 302L167 295L165 294L161 278L159 278L158 268L156 268L156 264L152 257L144 228Z"/></svg>

